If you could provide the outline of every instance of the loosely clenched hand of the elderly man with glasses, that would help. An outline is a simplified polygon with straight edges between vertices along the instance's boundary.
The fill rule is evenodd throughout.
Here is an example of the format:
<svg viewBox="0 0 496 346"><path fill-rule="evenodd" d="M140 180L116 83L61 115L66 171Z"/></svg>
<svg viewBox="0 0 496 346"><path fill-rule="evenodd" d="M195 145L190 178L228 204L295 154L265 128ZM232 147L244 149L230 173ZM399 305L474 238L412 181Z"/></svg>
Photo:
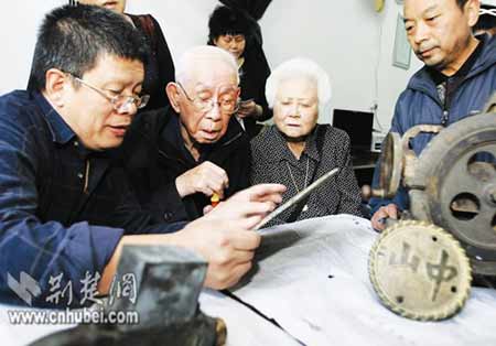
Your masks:
<svg viewBox="0 0 496 346"><path fill-rule="evenodd" d="M228 186L229 179L226 171L209 161L198 164L175 179L175 187L181 197L201 192L206 196L216 193L224 198L224 190Z"/></svg>

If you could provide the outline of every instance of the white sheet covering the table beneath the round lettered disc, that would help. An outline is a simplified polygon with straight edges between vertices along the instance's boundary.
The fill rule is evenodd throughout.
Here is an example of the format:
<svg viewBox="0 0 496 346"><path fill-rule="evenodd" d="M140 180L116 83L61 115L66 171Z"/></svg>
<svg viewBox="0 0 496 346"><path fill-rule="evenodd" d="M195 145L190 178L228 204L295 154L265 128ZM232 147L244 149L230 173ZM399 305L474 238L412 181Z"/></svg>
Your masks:
<svg viewBox="0 0 496 346"><path fill-rule="evenodd" d="M384 307L368 279L377 234L366 219L309 219L263 237L256 273L234 294L308 345L496 345L494 290L473 289L464 310L443 322L410 321ZM278 244L291 246L274 250Z"/></svg>

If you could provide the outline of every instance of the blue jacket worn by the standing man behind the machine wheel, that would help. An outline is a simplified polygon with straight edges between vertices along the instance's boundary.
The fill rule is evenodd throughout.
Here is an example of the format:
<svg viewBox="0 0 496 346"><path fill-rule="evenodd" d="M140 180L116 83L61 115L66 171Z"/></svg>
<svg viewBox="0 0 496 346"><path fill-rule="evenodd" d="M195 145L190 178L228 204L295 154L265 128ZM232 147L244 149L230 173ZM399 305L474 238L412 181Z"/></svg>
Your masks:
<svg viewBox="0 0 496 346"><path fill-rule="evenodd" d="M450 105L448 126L479 112L496 91L496 36L483 36L484 44L481 55L456 89ZM417 72L410 79L407 89L401 93L392 117L391 132L400 136L422 123L441 125L443 106L439 99L434 82L425 67ZM427 147L434 134L420 133L410 143L417 156ZM379 181L378 167L374 171L373 186ZM405 187L400 186L392 199L370 198L371 213L389 203L396 204L401 210L409 208L409 197Z"/></svg>

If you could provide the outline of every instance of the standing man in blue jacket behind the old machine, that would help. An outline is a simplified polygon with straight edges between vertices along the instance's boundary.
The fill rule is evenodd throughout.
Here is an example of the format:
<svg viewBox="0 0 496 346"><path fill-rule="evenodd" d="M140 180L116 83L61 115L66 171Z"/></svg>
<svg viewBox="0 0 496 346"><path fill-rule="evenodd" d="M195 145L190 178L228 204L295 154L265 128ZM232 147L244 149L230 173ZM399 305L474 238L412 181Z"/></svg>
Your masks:
<svg viewBox="0 0 496 346"><path fill-rule="evenodd" d="M421 123L450 126L483 110L496 90L496 40L475 37L478 0L406 0L405 26L416 55L425 64L400 95L391 132L402 136ZM412 141L417 155L433 134L421 133ZM374 184L378 181L378 170ZM382 230L382 220L397 218L409 207L405 188L391 199L371 198L371 224Z"/></svg>

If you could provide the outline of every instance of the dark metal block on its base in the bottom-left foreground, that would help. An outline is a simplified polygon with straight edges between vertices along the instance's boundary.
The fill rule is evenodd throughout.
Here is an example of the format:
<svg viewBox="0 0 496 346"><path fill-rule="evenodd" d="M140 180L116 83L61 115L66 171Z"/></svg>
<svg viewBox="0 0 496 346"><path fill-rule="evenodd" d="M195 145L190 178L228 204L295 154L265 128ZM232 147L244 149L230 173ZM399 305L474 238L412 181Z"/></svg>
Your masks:
<svg viewBox="0 0 496 346"><path fill-rule="evenodd" d="M200 311L207 263L168 246L125 246L116 278L132 275L134 291L112 286L105 314L137 312L138 324L89 324L46 336L32 346L187 345L226 342L226 326ZM132 288L131 288L132 290Z"/></svg>

